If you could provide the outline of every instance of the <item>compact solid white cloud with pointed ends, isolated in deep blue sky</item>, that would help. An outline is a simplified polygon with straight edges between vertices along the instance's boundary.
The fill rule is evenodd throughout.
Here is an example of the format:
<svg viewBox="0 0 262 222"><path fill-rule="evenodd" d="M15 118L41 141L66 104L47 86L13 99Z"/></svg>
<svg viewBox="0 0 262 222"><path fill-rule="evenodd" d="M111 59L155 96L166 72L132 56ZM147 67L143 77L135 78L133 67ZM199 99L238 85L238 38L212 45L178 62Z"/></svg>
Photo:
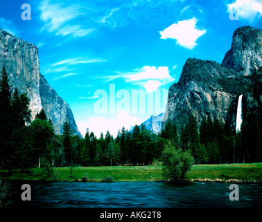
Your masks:
<svg viewBox="0 0 262 222"><path fill-rule="evenodd" d="M186 49L193 49L197 43L196 40L207 31L205 29L198 29L195 25L198 19L193 17L192 19L182 20L177 24L172 24L164 31L160 31L161 39L167 38L177 40L177 44L183 46Z"/></svg>

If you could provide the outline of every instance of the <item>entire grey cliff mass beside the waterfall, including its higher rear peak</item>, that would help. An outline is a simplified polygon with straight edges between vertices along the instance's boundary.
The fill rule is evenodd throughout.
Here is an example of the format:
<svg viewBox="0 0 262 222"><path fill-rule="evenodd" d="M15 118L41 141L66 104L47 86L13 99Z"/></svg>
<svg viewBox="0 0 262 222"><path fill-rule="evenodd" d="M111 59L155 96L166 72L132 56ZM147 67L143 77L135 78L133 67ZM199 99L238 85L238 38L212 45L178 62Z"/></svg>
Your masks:
<svg viewBox="0 0 262 222"><path fill-rule="evenodd" d="M229 121L234 127L238 96L247 94L250 74L262 66L261 32L250 26L238 28L222 65L209 60L186 60L180 80L169 88L164 119L182 126L190 114L198 124L210 114L211 119Z"/></svg>

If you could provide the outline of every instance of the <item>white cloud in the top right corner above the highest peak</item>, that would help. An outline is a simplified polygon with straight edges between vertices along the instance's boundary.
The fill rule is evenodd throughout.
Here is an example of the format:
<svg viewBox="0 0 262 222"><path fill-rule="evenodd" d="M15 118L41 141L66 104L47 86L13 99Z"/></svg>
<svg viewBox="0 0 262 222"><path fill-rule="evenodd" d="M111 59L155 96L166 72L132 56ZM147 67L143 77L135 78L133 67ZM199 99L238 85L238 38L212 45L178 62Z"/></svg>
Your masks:
<svg viewBox="0 0 262 222"><path fill-rule="evenodd" d="M227 12L232 15L237 11L238 17L254 22L262 16L261 0L235 0L234 3L227 4Z"/></svg>

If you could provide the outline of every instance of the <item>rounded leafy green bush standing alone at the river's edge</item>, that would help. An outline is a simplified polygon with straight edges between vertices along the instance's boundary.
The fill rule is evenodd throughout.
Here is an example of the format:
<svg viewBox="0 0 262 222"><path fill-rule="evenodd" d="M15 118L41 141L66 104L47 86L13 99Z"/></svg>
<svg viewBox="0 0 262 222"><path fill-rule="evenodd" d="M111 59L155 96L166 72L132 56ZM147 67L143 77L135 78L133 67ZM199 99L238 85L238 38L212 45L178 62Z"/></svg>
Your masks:
<svg viewBox="0 0 262 222"><path fill-rule="evenodd" d="M164 178L171 181L182 181L186 172L191 170L194 159L190 151L182 151L168 143L162 153L162 171Z"/></svg>

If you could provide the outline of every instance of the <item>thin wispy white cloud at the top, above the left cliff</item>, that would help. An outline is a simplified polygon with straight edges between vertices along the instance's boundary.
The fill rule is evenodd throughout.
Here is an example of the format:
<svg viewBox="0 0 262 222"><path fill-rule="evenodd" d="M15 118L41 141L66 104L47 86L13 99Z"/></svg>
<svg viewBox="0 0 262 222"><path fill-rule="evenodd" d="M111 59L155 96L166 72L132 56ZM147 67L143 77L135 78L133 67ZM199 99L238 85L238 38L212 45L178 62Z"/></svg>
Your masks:
<svg viewBox="0 0 262 222"><path fill-rule="evenodd" d="M42 29L46 28L49 32L55 32L56 35L82 37L94 31L93 28L85 28L79 24L69 24L76 17L84 15L80 10L80 5L64 6L62 3L51 4L49 0L43 0L39 9L41 11L40 19L46 23Z"/></svg>

